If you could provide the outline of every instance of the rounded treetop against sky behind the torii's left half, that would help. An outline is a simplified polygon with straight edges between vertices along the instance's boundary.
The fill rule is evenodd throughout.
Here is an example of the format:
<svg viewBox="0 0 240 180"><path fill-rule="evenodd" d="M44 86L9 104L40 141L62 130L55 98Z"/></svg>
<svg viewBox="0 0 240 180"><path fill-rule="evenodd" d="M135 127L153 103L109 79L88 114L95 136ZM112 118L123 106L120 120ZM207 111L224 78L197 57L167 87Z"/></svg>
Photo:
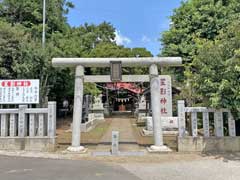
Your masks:
<svg viewBox="0 0 240 180"><path fill-rule="evenodd" d="M53 42L67 57L87 57L99 43L113 43L115 29L110 23L84 24L63 33L53 33Z"/></svg>

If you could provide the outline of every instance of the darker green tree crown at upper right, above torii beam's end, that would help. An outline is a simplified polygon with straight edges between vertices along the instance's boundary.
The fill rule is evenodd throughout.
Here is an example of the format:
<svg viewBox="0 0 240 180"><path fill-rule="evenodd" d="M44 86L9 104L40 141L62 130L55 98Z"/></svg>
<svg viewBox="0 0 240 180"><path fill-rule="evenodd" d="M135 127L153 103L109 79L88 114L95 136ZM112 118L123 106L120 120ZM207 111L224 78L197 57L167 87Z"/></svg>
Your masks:
<svg viewBox="0 0 240 180"><path fill-rule="evenodd" d="M195 38L213 40L240 13L238 0L188 0L175 9L171 27L163 33L161 55L181 56L190 63Z"/></svg>

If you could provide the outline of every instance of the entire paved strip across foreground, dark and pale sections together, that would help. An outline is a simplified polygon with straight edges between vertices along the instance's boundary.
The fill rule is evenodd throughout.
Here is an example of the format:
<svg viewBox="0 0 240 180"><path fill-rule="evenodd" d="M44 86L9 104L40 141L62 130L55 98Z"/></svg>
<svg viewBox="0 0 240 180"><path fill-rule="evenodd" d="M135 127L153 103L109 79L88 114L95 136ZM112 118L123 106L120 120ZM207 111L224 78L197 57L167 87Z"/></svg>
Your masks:
<svg viewBox="0 0 240 180"><path fill-rule="evenodd" d="M184 156L183 156L184 158ZM147 162L147 163L146 163ZM240 156L118 164L0 156L0 180L239 180Z"/></svg>

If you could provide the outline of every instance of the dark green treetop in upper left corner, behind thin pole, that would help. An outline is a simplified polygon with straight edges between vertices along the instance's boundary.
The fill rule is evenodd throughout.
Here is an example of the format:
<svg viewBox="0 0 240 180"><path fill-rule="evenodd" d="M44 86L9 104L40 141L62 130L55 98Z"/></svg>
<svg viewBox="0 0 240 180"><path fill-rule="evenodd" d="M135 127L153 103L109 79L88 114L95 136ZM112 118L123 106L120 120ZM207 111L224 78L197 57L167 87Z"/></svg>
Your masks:
<svg viewBox="0 0 240 180"><path fill-rule="evenodd" d="M29 28L32 36L41 37L42 1L36 0L2 0L0 1L0 17L7 22L22 24ZM65 32L69 25L65 15L73 4L66 0L46 0L47 36L53 32Z"/></svg>

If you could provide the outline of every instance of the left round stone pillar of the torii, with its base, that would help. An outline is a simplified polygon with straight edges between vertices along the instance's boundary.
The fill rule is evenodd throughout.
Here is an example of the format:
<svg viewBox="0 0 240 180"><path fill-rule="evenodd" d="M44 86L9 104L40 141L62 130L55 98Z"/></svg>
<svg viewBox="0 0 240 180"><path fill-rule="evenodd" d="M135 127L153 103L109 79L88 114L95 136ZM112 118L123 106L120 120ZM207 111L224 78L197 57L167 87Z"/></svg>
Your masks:
<svg viewBox="0 0 240 180"><path fill-rule="evenodd" d="M85 148L80 146L81 122L82 122L82 102L83 102L83 76L84 67L77 66L75 72L75 89L74 89L74 109L72 124L72 146L68 147L69 151L81 152Z"/></svg>

